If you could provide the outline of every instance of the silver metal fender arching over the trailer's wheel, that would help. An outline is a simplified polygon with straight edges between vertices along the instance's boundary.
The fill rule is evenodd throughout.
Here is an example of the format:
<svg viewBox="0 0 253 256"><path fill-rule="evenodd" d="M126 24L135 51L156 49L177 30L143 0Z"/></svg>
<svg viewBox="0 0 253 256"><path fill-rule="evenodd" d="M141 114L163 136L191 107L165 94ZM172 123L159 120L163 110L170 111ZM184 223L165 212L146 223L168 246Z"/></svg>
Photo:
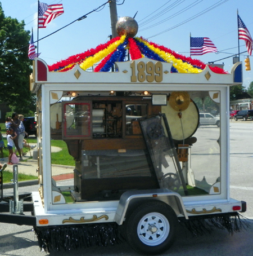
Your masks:
<svg viewBox="0 0 253 256"><path fill-rule="evenodd" d="M150 189L150 190L132 190L126 191L120 197L119 205L115 213L114 221L119 225L123 224L126 214L131 209L147 200L159 200L171 206L178 217L188 219L186 208L184 207L182 197L166 188Z"/></svg>

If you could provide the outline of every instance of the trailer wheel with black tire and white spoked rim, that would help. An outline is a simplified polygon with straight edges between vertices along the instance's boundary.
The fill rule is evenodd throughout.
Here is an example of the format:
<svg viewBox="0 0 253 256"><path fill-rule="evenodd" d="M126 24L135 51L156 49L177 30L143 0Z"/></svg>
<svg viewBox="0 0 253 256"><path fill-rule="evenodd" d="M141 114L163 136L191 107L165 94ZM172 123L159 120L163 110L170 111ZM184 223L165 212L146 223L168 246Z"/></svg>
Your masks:
<svg viewBox="0 0 253 256"><path fill-rule="evenodd" d="M173 244L177 222L177 215L169 205L146 202L126 219L126 240L138 253L160 254Z"/></svg>

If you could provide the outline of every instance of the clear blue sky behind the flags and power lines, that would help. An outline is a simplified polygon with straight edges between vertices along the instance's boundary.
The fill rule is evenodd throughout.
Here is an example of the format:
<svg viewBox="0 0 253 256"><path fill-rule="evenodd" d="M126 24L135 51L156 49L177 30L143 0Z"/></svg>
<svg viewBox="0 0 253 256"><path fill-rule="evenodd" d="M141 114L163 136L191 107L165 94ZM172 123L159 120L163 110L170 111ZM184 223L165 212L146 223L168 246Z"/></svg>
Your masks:
<svg viewBox="0 0 253 256"><path fill-rule="evenodd" d="M34 29L34 41L37 40L36 0L0 0L5 16L25 21L25 29ZM57 29L88 14L106 3L105 0L45 0L48 5L62 3L64 14L58 16L39 29L39 38L55 32ZM144 37L159 45L189 56L189 35L209 37L219 53L192 56L208 63L224 63L224 69L231 72L233 59L238 54L237 9L242 21L253 37L253 1L252 0L117 0L118 17L133 17L139 24L137 36ZM212 10L210 10L212 9ZM210 11L209 11L210 10ZM202 15L201 15L202 14ZM195 17L195 19L193 19ZM180 25L183 23L182 25ZM76 21L59 32L39 42L40 58L51 65L58 60L84 52L89 48L107 42L111 34L109 3L101 10L92 12L86 19ZM240 40L240 52L246 51L245 41ZM253 58L251 71L244 68L247 52L240 56L243 61L243 86L253 81ZM224 59L226 58L226 59ZM217 61L219 60L219 61Z"/></svg>

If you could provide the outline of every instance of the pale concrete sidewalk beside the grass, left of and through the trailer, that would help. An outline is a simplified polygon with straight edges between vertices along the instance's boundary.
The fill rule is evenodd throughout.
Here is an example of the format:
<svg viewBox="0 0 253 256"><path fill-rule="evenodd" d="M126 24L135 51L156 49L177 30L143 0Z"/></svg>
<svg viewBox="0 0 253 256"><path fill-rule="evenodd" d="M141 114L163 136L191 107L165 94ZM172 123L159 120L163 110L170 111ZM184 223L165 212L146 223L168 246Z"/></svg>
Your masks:
<svg viewBox="0 0 253 256"><path fill-rule="evenodd" d="M51 149L53 152L59 151L58 148L52 147ZM61 150L61 149L60 149ZM33 152L31 151L31 154L33 155ZM37 170L38 170L38 161L30 158L29 152L26 156L22 157L24 161L21 161L17 164L17 171L19 173L24 173L26 175L34 175L38 176ZM8 158L4 158L4 161L0 161L1 164L7 163ZM74 178L74 172L75 166L66 166L66 165L52 165L52 178L56 181L58 180L65 180L65 179L73 179ZM6 170L13 171L13 165L8 165L6 167ZM28 180L24 182L19 182L19 187L22 186L30 186L38 184L38 179L35 180ZM10 181L10 183L4 183L3 188L11 188L13 187L13 183Z"/></svg>

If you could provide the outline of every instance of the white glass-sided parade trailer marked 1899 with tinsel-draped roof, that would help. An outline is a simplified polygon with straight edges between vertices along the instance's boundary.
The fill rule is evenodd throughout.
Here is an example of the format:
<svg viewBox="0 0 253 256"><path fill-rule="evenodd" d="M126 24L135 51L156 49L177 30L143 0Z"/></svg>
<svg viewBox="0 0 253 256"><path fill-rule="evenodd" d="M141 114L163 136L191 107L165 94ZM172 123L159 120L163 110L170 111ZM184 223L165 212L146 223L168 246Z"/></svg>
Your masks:
<svg viewBox="0 0 253 256"><path fill-rule="evenodd" d="M242 64L228 73L135 37L130 17L116 29L56 64L35 58L39 189L30 203L14 198L2 222L33 226L46 251L126 240L159 254L179 222L237 231L246 202L229 196L229 86L242 84ZM199 127L195 99L206 97L219 127ZM75 161L64 186L52 177L52 140Z"/></svg>

